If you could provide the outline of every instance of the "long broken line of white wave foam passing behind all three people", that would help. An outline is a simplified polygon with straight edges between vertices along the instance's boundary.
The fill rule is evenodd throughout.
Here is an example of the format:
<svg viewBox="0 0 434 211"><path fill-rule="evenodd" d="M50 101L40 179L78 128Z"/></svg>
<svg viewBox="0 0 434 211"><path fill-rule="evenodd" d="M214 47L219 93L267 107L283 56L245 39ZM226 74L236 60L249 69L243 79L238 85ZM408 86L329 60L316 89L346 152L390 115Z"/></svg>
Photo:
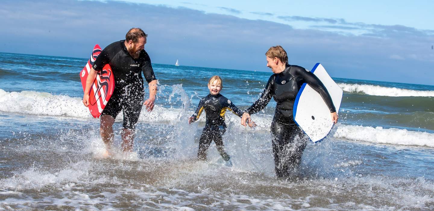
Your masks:
<svg viewBox="0 0 434 211"><path fill-rule="evenodd" d="M183 104L189 104L186 97L187 96L182 96ZM0 111L30 115L92 118L89 110L82 104L81 98L52 95L50 93L39 93L33 91L5 92L4 90L0 89ZM193 111L191 110L191 113L192 112ZM187 122L188 115L190 115L188 108L164 108L162 106L156 105L152 112L146 112L145 109L143 109L139 117L139 121L161 122L171 125L179 125L179 123ZM122 121L122 118L122 114L120 114L117 120ZM269 127L272 118L273 117L271 115L265 115L261 113L254 115L252 117L253 121L255 121L260 127L263 127L256 127L255 131L269 133ZM230 114L230 112L228 112L226 119L227 125L229 127L235 127L237 130L243 130L243 126L240 125L240 118L236 115ZM205 118L203 115L199 119L199 122L202 122L203 124L204 120ZM183 127L187 127L187 125L184 124ZM434 147L434 143L432 142L432 140L434 140L434 134L427 132L408 131L397 128L383 129L381 127L372 128L338 125L338 129L334 136L336 138L367 141L380 144Z"/></svg>

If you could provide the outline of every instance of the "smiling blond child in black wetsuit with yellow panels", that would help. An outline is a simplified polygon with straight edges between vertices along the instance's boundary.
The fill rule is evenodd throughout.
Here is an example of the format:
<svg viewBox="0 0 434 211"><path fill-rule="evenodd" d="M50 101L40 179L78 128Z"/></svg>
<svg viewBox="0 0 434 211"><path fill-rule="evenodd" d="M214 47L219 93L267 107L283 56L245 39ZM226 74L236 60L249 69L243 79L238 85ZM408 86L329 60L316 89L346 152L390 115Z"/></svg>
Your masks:
<svg viewBox="0 0 434 211"><path fill-rule="evenodd" d="M208 81L208 89L210 94L202 98L197 106L196 112L188 118L188 123L197 121L203 110L206 113L206 124L202 131L199 141L199 150L197 151L198 160L207 160L207 150L212 141L216 143L217 150L227 165L232 166L230 156L224 151L222 135L226 132L226 123L224 122L224 114L226 109L239 116L243 116L243 112L233 105L233 103L220 94L223 87L222 80L219 76L213 76Z"/></svg>

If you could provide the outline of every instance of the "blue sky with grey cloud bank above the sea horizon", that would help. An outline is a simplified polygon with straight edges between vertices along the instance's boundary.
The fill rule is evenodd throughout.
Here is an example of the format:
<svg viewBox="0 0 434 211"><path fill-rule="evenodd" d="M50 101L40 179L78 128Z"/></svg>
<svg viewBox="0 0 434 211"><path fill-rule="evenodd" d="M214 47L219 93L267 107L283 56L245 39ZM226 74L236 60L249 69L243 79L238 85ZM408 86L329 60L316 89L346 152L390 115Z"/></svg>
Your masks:
<svg viewBox="0 0 434 211"><path fill-rule="evenodd" d="M270 71L264 54L282 45L290 64L321 62L332 77L434 85L433 10L431 1L2 0L0 51L86 58L141 27L153 63Z"/></svg>

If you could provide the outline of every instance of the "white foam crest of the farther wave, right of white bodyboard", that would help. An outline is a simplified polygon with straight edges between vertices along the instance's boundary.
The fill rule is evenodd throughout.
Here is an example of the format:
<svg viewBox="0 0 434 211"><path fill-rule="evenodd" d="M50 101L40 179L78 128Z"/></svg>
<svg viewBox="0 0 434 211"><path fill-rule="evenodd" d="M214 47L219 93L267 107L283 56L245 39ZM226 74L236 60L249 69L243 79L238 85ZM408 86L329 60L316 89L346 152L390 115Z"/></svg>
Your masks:
<svg viewBox="0 0 434 211"><path fill-rule="evenodd" d="M420 91L420 90L407 90L395 87L385 87L369 84L351 84L351 83L339 83L342 90L349 93L365 93L367 95L376 96L434 96L434 91Z"/></svg>

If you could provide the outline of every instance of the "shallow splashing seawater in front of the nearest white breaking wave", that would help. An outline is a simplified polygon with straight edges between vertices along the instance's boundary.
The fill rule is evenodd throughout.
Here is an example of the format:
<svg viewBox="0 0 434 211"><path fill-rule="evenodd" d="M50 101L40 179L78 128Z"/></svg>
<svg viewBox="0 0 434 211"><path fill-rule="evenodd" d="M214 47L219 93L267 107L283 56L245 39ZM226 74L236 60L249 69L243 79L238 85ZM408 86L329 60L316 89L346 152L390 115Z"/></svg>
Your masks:
<svg viewBox="0 0 434 211"><path fill-rule="evenodd" d="M236 129L238 125L229 125L233 132L224 136L233 159L233 167L227 167L219 162L214 144L208 162L194 159L201 127L187 126L195 137L190 139L179 134L185 125L139 123L136 152L104 158L102 141L94 135L98 121L27 116L23 125L15 126L8 122L20 118L19 114L1 116L2 128L7 128L2 131L7 138L0 143L3 209L434 208L434 150L429 147L330 138L309 143L299 171L281 180L274 176L270 134ZM116 122L115 128L121 124Z"/></svg>

